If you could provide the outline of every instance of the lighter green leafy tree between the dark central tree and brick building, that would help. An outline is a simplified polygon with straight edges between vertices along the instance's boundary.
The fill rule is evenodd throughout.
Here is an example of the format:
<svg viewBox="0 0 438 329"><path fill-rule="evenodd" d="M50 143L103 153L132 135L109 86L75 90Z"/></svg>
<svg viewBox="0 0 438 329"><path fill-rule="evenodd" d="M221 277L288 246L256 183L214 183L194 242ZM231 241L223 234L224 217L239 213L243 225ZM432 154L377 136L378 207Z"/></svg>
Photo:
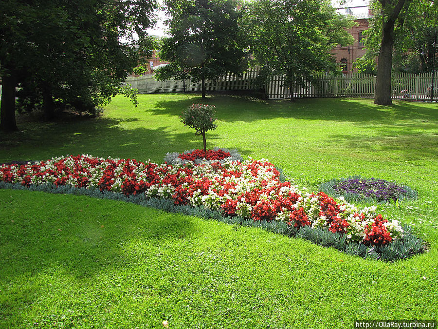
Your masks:
<svg viewBox="0 0 438 329"><path fill-rule="evenodd" d="M345 28L353 21L326 0L255 0L242 20L251 50L261 64L284 74L291 90L315 71L336 70L330 50L353 43Z"/></svg>

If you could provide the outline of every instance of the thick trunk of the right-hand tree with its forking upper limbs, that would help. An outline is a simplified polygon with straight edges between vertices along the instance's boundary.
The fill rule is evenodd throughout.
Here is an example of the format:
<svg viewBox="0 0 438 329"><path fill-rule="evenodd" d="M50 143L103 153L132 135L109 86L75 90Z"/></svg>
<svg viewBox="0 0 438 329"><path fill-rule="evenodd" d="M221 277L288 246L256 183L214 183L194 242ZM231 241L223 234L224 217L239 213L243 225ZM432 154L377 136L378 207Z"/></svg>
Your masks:
<svg viewBox="0 0 438 329"><path fill-rule="evenodd" d="M377 59L377 79L374 103L391 105L392 53L394 31L402 27L412 0L378 0L380 11L376 13L381 24L381 41ZM375 11L376 12L376 11Z"/></svg>

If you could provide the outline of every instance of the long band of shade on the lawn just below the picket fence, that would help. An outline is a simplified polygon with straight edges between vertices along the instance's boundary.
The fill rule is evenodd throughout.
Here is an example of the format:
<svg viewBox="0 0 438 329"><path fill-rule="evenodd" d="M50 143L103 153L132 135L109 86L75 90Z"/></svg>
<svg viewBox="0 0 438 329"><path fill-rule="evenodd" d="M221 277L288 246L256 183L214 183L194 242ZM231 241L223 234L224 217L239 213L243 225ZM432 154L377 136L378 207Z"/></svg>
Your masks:
<svg viewBox="0 0 438 329"><path fill-rule="evenodd" d="M438 122L438 111L427 103L395 101L392 106L378 106L371 100L347 98L307 98L259 100L247 97L216 96L181 100L159 100L148 110L154 115L180 116L192 103L215 105L219 120L226 122L295 118L306 120L348 121L354 123L386 122L395 118L422 119Z"/></svg>

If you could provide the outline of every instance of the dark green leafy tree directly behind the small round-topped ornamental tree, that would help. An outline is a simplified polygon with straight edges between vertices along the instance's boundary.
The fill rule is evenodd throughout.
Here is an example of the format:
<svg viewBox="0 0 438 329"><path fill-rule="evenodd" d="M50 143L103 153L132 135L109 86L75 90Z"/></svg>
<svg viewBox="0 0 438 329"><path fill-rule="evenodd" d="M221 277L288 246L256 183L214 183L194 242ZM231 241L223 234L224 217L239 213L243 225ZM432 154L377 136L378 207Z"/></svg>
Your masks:
<svg viewBox="0 0 438 329"><path fill-rule="evenodd" d="M160 58L170 62L158 72L159 79L191 78L201 81L246 68L235 0L168 0L170 37L163 40Z"/></svg>

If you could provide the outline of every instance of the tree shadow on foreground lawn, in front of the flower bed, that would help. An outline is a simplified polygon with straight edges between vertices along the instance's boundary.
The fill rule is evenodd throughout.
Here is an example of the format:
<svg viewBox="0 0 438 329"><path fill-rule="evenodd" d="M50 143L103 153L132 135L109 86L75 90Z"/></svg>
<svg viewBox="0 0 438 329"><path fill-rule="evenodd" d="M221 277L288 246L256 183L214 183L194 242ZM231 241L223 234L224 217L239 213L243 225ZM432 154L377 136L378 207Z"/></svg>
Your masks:
<svg viewBox="0 0 438 329"><path fill-rule="evenodd" d="M5 194L0 284L29 273L89 277L120 270L157 257L164 244L196 234L190 217L124 202L0 190Z"/></svg>

